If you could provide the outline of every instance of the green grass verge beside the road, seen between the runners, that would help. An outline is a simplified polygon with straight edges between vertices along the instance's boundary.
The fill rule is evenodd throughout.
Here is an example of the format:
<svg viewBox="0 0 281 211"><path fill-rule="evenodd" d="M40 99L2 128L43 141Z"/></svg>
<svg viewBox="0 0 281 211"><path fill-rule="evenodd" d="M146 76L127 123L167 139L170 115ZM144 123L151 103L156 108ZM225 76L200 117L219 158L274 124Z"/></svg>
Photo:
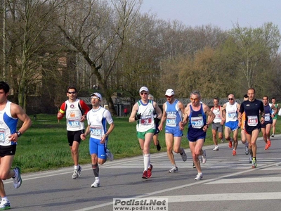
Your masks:
<svg viewBox="0 0 281 211"><path fill-rule="evenodd" d="M115 129L109 136L108 148L114 154L115 160L142 155L136 137L136 122L129 123L129 117L115 117L114 121ZM280 134L279 124L280 122L277 121L276 134ZM187 127L185 127L181 145L183 148L188 148L186 134ZM166 151L164 131L159 133L159 141L162 146L161 152ZM205 141L205 145L210 144L213 144L211 128L208 129ZM157 153L153 141L150 148L150 153ZM79 146L79 163L90 162L88 136L85 141L81 141ZM13 166L21 167L22 172L37 172L72 165L65 118L58 122L56 115L37 115L37 120L32 120L32 127L18 140Z"/></svg>

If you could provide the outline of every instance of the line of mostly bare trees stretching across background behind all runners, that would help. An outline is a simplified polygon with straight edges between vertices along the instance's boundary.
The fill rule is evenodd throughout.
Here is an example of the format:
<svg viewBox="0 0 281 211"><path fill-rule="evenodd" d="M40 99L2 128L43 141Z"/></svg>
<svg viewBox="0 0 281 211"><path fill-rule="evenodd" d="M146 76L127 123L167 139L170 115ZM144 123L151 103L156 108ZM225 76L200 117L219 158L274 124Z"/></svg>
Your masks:
<svg viewBox="0 0 281 211"><path fill-rule="evenodd" d="M24 109L31 96L52 106L74 85L93 86L116 115L112 94L134 103L147 86L155 98L166 89L186 98L237 98L256 89L281 98L280 31L273 23L231 30L190 27L141 13L141 0L1 0L0 77ZM81 95L80 94L80 95Z"/></svg>

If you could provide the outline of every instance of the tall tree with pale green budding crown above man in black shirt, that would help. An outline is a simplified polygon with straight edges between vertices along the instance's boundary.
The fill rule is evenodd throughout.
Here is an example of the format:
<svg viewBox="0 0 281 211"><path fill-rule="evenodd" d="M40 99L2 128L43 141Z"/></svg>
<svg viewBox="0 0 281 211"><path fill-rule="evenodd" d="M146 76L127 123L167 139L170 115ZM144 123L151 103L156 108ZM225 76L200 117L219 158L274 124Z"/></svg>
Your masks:
<svg viewBox="0 0 281 211"><path fill-rule="evenodd" d="M273 23L262 27L240 27L230 30L225 44L225 54L233 68L244 76L247 88L258 86L259 73L275 59L280 46L280 32Z"/></svg>

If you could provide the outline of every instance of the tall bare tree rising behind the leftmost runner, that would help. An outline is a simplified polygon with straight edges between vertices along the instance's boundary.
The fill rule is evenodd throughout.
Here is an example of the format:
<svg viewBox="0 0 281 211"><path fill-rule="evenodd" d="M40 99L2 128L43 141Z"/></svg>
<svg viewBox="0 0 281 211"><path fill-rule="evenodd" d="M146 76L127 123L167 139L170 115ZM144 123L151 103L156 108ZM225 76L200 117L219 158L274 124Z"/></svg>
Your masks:
<svg viewBox="0 0 281 211"><path fill-rule="evenodd" d="M44 64L58 52L55 1L11 0L6 3L6 67L18 104L26 109L27 96L39 89L44 79ZM50 53L51 52L51 53ZM55 65L55 64L53 64ZM36 91L35 91L36 92Z"/></svg>

